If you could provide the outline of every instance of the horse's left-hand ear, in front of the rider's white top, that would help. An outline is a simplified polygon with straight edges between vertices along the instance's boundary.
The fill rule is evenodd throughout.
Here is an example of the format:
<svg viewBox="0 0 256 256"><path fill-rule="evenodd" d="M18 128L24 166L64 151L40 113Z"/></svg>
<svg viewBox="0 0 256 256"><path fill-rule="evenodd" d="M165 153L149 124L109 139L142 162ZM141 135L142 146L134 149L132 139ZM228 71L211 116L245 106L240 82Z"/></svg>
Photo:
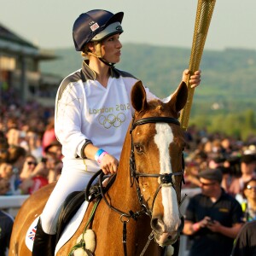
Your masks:
<svg viewBox="0 0 256 256"><path fill-rule="evenodd" d="M147 96L142 81L137 81L131 89L131 105L137 112L147 108Z"/></svg>

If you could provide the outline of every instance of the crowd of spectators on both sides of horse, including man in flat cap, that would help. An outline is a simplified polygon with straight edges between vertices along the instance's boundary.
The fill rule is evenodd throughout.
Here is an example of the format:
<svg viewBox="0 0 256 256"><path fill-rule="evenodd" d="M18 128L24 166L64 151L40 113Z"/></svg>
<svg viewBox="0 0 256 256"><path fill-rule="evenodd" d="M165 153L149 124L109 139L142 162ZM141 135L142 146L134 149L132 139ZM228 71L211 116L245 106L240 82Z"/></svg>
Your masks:
<svg viewBox="0 0 256 256"><path fill-rule="evenodd" d="M0 195L30 195L60 177L61 144L55 137L53 114L54 108L31 102L24 107L18 104L1 105ZM195 126L189 127L186 137L186 183L183 188L202 189L201 197L191 200L194 207L190 203L185 216L183 234L191 237L192 244L201 241L194 248L194 254L191 250L192 256L202 255L197 254L201 250L201 243L205 247L209 241L210 244L217 241L218 249L224 241L225 248L227 243L231 247L242 224L256 220L256 137L243 142L218 133L209 134L206 129ZM204 176L209 170L221 172L219 186L219 177L212 180L212 176ZM207 195L207 189L215 191L215 194ZM230 201L232 206L225 208L225 201ZM207 210L198 214L196 208ZM209 210L214 212L216 208L224 214L211 213ZM232 214L225 215L226 210ZM227 230L223 231L223 227L229 228L232 236ZM214 236L216 233L221 236ZM198 240L200 237L204 237L204 240Z"/></svg>

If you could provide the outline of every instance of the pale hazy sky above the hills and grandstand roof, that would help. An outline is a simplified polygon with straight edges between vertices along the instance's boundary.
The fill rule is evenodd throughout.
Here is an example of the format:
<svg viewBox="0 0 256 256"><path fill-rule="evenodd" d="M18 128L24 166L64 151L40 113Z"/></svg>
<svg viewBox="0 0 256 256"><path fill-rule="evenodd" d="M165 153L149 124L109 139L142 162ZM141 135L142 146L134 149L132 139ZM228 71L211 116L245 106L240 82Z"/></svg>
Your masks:
<svg viewBox="0 0 256 256"><path fill-rule="evenodd" d="M73 47L90 9L124 11L125 43L191 48L197 0L0 0L0 24L42 49ZM256 1L216 0L205 49L256 49Z"/></svg>

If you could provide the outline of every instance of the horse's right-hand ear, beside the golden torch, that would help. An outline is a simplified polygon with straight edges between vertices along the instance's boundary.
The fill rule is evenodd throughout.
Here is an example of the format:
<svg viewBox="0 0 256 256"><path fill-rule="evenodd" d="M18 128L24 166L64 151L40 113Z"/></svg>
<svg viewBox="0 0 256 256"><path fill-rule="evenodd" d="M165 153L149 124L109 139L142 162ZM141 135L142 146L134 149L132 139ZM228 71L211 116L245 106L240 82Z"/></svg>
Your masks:
<svg viewBox="0 0 256 256"><path fill-rule="evenodd" d="M175 90L175 92L172 95L172 99L169 103L171 103L171 105L175 107L175 110L177 112L179 112L180 110L182 110L187 102L188 99L188 87L187 84L185 82L181 82L178 87L177 90Z"/></svg>

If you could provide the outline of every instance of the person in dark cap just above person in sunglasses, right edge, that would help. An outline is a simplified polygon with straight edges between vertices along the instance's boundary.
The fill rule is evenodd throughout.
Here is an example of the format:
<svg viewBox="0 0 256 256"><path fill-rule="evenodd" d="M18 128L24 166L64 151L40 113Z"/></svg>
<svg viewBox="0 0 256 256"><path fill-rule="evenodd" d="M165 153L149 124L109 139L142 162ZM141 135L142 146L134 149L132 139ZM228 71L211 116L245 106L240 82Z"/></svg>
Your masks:
<svg viewBox="0 0 256 256"><path fill-rule="evenodd" d="M241 156L241 176L233 179L228 188L230 195L236 196L238 201L242 201L242 189L244 184L256 177L256 155L255 154L243 154Z"/></svg>

